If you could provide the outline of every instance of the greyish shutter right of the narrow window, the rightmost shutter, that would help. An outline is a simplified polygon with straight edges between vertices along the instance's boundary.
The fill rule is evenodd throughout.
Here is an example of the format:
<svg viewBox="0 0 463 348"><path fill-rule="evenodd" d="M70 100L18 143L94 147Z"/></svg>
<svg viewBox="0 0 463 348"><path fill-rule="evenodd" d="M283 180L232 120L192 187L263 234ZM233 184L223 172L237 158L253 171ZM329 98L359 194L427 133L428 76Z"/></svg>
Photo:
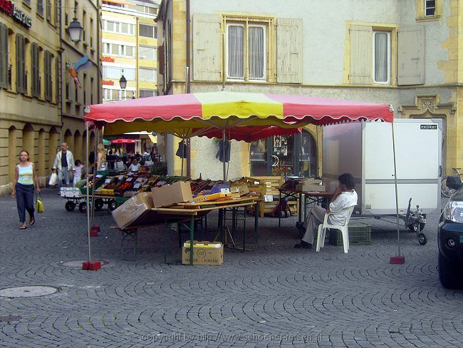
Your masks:
<svg viewBox="0 0 463 348"><path fill-rule="evenodd" d="M397 84L425 84L425 26L399 31Z"/></svg>

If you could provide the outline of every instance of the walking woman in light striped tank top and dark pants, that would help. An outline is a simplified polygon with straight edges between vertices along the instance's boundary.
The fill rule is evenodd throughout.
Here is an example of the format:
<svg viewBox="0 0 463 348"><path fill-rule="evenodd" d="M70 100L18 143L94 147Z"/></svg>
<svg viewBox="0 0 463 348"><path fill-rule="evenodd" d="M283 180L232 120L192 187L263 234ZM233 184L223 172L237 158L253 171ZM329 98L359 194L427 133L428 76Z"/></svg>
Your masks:
<svg viewBox="0 0 463 348"><path fill-rule="evenodd" d="M26 210L29 213L29 225L33 225L36 220L33 217L33 188L34 181L36 183L36 191L40 192L40 186L38 185L38 176L33 163L29 162L29 153L26 150L22 150L19 153L19 164L16 165L13 193L11 197L16 195L16 203L18 204L18 213L21 230L27 228L26 225Z"/></svg>

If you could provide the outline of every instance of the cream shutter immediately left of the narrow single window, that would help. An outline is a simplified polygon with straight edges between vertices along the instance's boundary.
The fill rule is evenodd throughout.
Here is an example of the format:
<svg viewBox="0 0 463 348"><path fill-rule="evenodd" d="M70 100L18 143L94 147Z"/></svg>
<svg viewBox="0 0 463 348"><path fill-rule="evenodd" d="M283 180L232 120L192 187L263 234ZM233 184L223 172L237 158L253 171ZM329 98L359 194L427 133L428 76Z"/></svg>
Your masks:
<svg viewBox="0 0 463 348"><path fill-rule="evenodd" d="M352 84L369 85L373 83L373 31L370 26L351 26L350 36L350 74Z"/></svg>

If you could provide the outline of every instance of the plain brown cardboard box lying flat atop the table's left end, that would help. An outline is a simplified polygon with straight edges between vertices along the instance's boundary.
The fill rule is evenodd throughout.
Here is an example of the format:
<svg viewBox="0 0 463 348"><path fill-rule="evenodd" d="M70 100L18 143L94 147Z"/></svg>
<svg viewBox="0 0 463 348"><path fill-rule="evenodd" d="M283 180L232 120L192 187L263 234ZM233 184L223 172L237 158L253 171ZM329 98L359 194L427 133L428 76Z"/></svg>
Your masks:
<svg viewBox="0 0 463 348"><path fill-rule="evenodd" d="M152 203L155 208L166 207L175 203L191 202L192 188L187 181L177 181L172 185L152 188Z"/></svg>

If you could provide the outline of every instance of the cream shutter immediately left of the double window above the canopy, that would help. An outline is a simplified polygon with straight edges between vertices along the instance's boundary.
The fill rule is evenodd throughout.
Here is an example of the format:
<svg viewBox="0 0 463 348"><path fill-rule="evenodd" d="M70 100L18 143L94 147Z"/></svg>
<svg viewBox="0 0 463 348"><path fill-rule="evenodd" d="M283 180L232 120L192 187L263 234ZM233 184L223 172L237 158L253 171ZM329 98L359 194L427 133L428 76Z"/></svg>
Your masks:
<svg viewBox="0 0 463 348"><path fill-rule="evenodd" d="M193 16L193 79L194 81L220 81L220 21L218 14Z"/></svg>

